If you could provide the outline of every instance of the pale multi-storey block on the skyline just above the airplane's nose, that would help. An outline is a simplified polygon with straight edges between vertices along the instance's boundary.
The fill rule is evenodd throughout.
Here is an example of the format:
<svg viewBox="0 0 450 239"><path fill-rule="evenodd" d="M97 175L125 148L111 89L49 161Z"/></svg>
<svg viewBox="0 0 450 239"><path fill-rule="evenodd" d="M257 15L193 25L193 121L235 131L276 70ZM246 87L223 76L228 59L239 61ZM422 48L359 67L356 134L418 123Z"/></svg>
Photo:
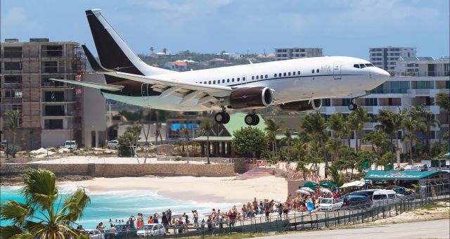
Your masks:
<svg viewBox="0 0 450 239"><path fill-rule="evenodd" d="M370 48L369 60L376 67L393 72L400 57L416 57L416 47L387 46Z"/></svg>

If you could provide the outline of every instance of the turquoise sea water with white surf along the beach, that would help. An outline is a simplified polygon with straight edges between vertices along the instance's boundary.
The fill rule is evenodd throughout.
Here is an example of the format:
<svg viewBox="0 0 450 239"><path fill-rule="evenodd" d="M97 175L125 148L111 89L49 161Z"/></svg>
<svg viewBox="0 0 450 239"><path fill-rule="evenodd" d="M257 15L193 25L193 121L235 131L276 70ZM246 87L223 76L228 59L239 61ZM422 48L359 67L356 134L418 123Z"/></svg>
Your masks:
<svg viewBox="0 0 450 239"><path fill-rule="evenodd" d="M5 200L17 200L24 202L20 195L18 186L1 186L0 187L0 202ZM64 185L58 186L60 194L67 195L73 192L76 186ZM199 203L193 200L177 200L174 198L163 198L158 195L155 190L96 190L88 191L91 197L91 204L84 210L82 219L77 221L78 224L83 225L84 228L96 228L96 225L103 221L103 224L109 227L109 219L127 219L140 212L148 219L148 217L155 212L158 212L161 217L161 212L167 209L172 210L172 215L186 214L192 217L191 210L196 209L200 214L207 214L213 208L227 210L231 209L233 205L238 203ZM201 217L200 217L201 218ZM8 221L0 221L1 226L8 224Z"/></svg>

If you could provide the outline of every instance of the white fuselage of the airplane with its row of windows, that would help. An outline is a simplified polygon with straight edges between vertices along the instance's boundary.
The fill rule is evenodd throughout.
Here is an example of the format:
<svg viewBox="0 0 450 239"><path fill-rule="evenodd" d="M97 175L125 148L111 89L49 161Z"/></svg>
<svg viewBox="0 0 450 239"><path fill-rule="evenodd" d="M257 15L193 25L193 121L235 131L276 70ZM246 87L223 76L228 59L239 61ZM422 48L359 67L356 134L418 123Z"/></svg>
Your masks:
<svg viewBox="0 0 450 239"><path fill-rule="evenodd" d="M362 64L364 67L355 67L355 64ZM369 67L366 67L366 64L369 64ZM177 82L233 86L236 89L266 86L274 90L275 104L280 104L369 91L383 84L389 78L389 73L371 66L367 60L345 56L325 56L173 72L152 77ZM120 96L114 93L103 93L103 96L115 101L161 110L203 111L209 109L204 105L198 105L198 98L180 104L183 96L176 95L167 96L164 99L160 99L159 96ZM212 109L218 110L220 105L214 105Z"/></svg>

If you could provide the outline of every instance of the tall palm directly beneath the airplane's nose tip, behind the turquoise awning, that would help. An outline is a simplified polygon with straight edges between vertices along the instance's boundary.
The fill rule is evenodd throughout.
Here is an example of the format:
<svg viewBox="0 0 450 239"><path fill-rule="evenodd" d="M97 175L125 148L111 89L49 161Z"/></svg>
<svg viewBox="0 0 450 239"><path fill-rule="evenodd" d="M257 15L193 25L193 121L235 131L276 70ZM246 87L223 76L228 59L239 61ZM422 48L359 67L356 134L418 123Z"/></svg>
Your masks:
<svg viewBox="0 0 450 239"><path fill-rule="evenodd" d="M397 140L398 134L397 132L401 129L401 121L404 118L404 112L392 112L390 110L380 110L378 112L377 120L381 123L375 126L376 130L380 130L385 132L387 135L394 136L395 143L397 149L399 148L399 142ZM392 144L393 145L393 144ZM396 150L392 149L392 153L395 154ZM397 159L397 164L400 164L400 159ZM393 159L391 158L391 163L394 164Z"/></svg>

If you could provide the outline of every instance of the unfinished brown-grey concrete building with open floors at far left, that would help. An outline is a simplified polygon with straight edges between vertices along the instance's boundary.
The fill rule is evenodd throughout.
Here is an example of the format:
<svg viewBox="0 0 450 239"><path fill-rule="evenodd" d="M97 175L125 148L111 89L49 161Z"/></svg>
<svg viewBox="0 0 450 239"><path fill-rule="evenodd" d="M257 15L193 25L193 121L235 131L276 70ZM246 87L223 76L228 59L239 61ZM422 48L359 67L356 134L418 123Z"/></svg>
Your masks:
<svg viewBox="0 0 450 239"><path fill-rule="evenodd" d="M81 79L84 54L77 42L6 39L1 46L1 138L12 142L7 110L19 110L15 143L23 149L82 140L82 90L49 78Z"/></svg>

